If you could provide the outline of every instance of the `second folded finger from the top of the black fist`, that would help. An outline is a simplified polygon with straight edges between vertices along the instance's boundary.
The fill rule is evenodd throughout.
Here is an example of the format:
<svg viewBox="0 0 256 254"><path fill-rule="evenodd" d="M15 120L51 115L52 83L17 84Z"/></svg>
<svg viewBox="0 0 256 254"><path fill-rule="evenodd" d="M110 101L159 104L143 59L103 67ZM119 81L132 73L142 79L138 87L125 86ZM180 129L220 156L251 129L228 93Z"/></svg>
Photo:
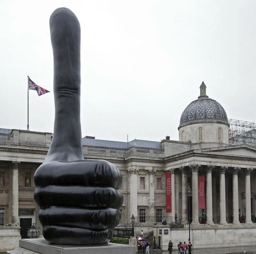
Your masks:
<svg viewBox="0 0 256 254"><path fill-rule="evenodd" d="M119 208L121 191L109 187L56 186L35 187L34 200L41 207Z"/></svg>

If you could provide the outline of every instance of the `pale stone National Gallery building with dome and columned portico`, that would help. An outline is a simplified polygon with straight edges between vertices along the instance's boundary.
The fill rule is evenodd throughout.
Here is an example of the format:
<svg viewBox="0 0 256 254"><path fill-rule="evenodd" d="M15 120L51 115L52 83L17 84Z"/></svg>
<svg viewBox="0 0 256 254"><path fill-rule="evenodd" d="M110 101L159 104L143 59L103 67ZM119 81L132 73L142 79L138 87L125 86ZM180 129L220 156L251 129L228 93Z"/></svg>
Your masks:
<svg viewBox="0 0 256 254"><path fill-rule="evenodd" d="M176 244L187 241L190 218L191 241L198 248L205 242L250 245L256 239L256 126L251 126L244 132L250 138L232 132L224 108L206 95L203 82L200 96L181 115L178 141L86 136L82 144L85 159L105 159L123 174L119 228L131 228L134 215L135 234L148 233L166 219L168 237ZM17 244L14 239L25 238L32 223L41 230L33 175L51 139L51 133L0 129L0 236L5 236L0 246ZM184 227L169 226L175 214Z"/></svg>

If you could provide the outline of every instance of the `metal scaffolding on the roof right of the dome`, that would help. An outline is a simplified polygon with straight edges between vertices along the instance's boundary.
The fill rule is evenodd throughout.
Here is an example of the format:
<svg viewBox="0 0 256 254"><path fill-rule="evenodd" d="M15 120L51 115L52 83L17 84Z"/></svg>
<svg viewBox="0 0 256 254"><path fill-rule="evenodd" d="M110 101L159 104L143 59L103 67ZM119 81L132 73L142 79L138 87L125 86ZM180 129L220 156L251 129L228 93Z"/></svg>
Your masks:
<svg viewBox="0 0 256 254"><path fill-rule="evenodd" d="M229 145L248 145L256 147L256 124L247 121L228 119Z"/></svg>

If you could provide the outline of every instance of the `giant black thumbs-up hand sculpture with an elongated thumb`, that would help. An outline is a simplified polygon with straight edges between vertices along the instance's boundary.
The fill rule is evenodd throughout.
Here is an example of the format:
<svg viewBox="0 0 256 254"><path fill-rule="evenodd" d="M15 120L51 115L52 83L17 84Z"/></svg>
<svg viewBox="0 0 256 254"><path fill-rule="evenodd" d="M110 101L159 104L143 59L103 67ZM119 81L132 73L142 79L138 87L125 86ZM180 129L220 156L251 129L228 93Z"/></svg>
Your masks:
<svg viewBox="0 0 256 254"><path fill-rule="evenodd" d="M84 160L80 123L80 24L66 8L50 17L54 60L54 135L34 174L43 236L51 244L107 243L120 220L122 174Z"/></svg>

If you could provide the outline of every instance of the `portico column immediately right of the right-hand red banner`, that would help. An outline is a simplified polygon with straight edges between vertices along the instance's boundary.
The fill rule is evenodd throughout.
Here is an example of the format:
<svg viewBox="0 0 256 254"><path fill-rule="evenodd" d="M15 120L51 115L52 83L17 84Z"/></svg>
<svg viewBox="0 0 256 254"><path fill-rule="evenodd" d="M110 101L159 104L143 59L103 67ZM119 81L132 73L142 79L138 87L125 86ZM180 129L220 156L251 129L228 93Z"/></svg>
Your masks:
<svg viewBox="0 0 256 254"><path fill-rule="evenodd" d="M206 169L206 208L207 224L213 224L213 193L212 193L212 170L214 166L207 166Z"/></svg>

